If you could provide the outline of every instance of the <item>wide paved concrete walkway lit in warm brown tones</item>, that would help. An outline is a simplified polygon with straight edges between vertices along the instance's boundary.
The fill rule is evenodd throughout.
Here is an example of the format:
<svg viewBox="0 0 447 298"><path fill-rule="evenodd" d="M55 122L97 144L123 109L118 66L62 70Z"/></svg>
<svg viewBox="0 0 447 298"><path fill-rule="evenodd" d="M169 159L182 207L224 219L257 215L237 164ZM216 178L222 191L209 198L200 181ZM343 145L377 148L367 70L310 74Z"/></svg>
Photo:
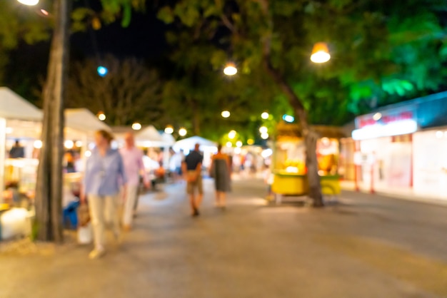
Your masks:
<svg viewBox="0 0 447 298"><path fill-rule="evenodd" d="M141 197L101 260L74 243L0 254L0 297L447 297L446 207L356 192L267 205L261 180L236 180L222 211L205 185L199 218L184 185Z"/></svg>

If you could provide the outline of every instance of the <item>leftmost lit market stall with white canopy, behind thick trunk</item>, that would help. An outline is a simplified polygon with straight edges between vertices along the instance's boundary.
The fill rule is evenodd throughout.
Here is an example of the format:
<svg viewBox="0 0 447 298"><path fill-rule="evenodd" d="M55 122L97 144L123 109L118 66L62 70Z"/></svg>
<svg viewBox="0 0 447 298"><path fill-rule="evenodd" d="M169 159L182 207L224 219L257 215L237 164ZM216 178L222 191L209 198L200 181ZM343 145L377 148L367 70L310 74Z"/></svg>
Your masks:
<svg viewBox="0 0 447 298"><path fill-rule="evenodd" d="M0 87L0 240L31 232L42 113Z"/></svg>

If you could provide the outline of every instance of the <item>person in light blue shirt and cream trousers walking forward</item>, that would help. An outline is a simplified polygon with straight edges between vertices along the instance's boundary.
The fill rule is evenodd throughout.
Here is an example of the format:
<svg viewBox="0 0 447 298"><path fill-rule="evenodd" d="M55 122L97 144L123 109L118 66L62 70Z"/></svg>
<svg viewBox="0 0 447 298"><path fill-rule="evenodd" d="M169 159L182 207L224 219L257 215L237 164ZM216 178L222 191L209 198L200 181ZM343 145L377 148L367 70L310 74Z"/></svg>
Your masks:
<svg viewBox="0 0 447 298"><path fill-rule="evenodd" d="M102 257L105 253L106 222L111 224L116 240L119 240L118 202L120 187L126 183L124 164L118 150L111 148L113 136L106 130L95 134L96 148L86 162L84 188L81 202L89 200L89 212L94 232L94 250L90 259ZM124 187L124 192L126 188Z"/></svg>

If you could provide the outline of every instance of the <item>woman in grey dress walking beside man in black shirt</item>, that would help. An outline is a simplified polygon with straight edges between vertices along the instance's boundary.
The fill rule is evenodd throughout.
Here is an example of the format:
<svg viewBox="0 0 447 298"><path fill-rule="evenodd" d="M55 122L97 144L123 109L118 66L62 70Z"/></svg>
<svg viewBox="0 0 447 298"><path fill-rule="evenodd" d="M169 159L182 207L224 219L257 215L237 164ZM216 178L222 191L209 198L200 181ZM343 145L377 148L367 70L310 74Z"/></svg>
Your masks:
<svg viewBox="0 0 447 298"><path fill-rule="evenodd" d="M230 191L231 162L228 155L222 153L222 145L217 146L217 153L211 162L211 177L216 188L216 207L225 208L226 192Z"/></svg>

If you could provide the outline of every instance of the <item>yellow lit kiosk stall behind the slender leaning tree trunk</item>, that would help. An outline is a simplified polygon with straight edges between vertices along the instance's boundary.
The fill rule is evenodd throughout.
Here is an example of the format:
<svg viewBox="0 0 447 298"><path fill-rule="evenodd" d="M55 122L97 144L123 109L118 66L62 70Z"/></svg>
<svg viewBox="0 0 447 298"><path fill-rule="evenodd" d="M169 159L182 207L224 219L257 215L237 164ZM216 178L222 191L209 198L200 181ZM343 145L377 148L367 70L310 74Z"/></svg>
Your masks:
<svg viewBox="0 0 447 298"><path fill-rule="evenodd" d="M338 128L315 126L321 136L317 140L318 175L323 195L337 195L341 188L338 181L338 139L342 133ZM272 191L281 195L306 195L308 178L306 168L306 146L298 125L280 123L273 143L271 164L273 173Z"/></svg>

